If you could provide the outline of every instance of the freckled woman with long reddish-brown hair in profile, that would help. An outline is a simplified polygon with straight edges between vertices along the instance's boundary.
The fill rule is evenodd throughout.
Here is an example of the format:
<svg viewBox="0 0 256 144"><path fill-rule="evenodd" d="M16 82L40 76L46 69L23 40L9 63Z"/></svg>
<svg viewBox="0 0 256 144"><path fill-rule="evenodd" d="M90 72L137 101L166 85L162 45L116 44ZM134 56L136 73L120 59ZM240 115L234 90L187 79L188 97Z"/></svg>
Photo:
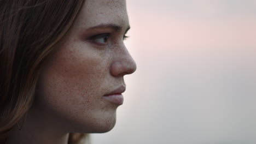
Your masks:
<svg viewBox="0 0 256 144"><path fill-rule="evenodd" d="M78 143L72 133L111 130L124 75L136 70L125 0L0 7L0 143Z"/></svg>

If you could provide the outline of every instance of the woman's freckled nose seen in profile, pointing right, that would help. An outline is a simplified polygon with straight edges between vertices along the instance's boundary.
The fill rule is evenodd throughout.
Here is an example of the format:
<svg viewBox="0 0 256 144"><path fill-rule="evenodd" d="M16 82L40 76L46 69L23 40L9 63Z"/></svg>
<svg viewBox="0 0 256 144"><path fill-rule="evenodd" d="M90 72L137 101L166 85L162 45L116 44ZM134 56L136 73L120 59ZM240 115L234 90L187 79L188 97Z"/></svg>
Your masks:
<svg viewBox="0 0 256 144"><path fill-rule="evenodd" d="M110 67L110 73L113 76L124 76L135 72L137 66L130 53L125 50L116 53L116 58Z"/></svg>

